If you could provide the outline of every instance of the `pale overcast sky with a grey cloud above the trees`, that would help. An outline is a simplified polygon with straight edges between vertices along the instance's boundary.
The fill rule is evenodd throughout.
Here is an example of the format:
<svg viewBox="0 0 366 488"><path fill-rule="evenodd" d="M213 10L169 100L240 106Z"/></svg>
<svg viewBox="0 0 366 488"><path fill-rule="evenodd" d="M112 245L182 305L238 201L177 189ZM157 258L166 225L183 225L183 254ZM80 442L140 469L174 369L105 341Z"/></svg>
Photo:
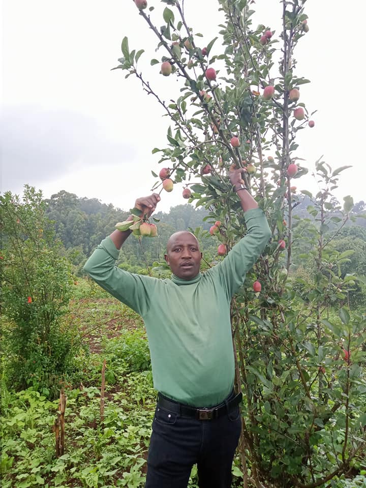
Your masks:
<svg viewBox="0 0 366 488"><path fill-rule="evenodd" d="M160 7L158 0L148 4ZM185 4L188 23L204 35L203 47L219 31L218 3ZM279 32L279 1L257 0L253 7L256 23ZM310 173L322 155L333 168L351 164L337 197L366 200L365 3L308 0L306 13L310 31L296 50L296 74L311 80L301 87L301 101L318 112L315 127L301 131L298 156ZM159 8L151 16L162 25ZM174 77L149 66L151 57L163 53L154 52L155 38L132 0L3 0L2 18L1 191L21 194L30 184L45 197L66 190L131 208L150 193L150 171L160 169L159 154L151 149L166 145L168 119L136 78L110 71L124 36L130 49L145 49L141 67L162 97L178 93ZM219 50L218 42L212 54ZM317 188L310 175L297 187ZM178 185L162 197L165 211L186 203Z"/></svg>

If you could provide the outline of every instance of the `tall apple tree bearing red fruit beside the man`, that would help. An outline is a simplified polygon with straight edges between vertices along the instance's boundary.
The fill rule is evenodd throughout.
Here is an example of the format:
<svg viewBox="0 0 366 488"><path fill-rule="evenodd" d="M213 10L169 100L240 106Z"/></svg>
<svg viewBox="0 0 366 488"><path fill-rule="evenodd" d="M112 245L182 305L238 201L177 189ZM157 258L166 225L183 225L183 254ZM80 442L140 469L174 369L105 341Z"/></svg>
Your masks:
<svg viewBox="0 0 366 488"><path fill-rule="evenodd" d="M351 252L331 246L353 206L350 196L336 209L332 200L347 166L319 160L319 192L297 188L308 168L296 137L314 127L301 98L309 80L294 57L309 31L305 3L281 0L275 32L253 26L254 2L219 0L225 21L218 37L204 41L183 1L135 0L126 8L137 7L156 35L159 59L150 69L176 77L179 92L163 100L139 68L144 50L130 50L126 37L114 68L136 77L170 119L167 146L153 150L162 165L153 190L180 187L182 198L209 209L212 224L221 222L212 232L220 256L245 235L228 178L230 168L244 168L272 231L231 304L236 388L244 398L234 474L245 487L330 486L365 468L366 317L348 306L357 277L342 266ZM293 209L303 194L311 218L299 221ZM308 243L309 253L298 257L312 263L307 282L292 272L298 239Z"/></svg>

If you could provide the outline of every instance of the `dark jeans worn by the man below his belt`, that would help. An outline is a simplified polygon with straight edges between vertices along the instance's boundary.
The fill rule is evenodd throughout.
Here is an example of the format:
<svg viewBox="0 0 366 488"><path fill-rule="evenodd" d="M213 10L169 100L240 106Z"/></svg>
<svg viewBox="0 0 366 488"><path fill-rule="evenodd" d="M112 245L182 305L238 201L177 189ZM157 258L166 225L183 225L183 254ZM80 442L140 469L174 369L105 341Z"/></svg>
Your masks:
<svg viewBox="0 0 366 488"><path fill-rule="evenodd" d="M157 407L145 488L187 488L194 464L200 488L230 488L240 430L239 406L213 420Z"/></svg>

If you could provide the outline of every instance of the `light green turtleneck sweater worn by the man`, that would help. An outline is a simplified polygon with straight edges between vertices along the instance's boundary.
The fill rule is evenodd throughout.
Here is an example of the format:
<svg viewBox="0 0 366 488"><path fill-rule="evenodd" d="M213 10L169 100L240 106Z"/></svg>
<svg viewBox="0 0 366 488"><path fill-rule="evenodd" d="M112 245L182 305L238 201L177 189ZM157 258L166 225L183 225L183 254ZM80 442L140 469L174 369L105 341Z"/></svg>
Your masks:
<svg viewBox="0 0 366 488"><path fill-rule="evenodd" d="M259 208L245 212L247 234L223 261L192 280L161 280L115 266L119 251L110 237L84 270L144 320L154 387L196 407L221 403L234 382L230 300L266 246L270 230Z"/></svg>

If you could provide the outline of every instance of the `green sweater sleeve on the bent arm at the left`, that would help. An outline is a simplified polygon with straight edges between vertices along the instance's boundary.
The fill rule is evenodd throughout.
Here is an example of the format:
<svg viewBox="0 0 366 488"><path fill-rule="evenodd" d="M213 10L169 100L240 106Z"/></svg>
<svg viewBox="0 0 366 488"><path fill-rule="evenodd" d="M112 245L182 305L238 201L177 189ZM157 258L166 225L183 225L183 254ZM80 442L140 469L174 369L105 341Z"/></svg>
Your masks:
<svg viewBox="0 0 366 488"><path fill-rule="evenodd" d="M149 308L149 297L156 279L117 268L117 258L118 250L112 239L106 237L86 261L83 269L104 290L144 316Z"/></svg>

